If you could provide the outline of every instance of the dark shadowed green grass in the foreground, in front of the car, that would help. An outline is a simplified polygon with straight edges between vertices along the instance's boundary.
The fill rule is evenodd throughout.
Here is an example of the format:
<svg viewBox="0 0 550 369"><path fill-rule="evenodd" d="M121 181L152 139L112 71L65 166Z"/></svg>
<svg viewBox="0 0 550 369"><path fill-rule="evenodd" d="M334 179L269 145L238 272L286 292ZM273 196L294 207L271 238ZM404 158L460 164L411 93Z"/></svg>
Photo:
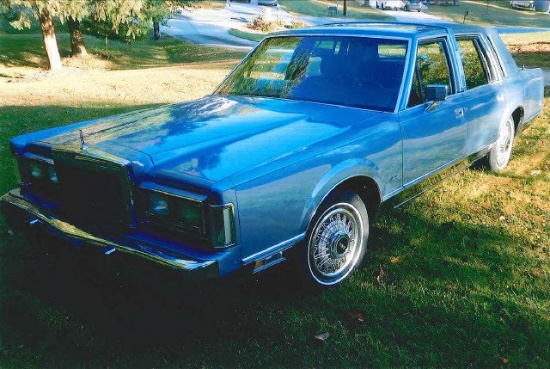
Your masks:
<svg viewBox="0 0 550 369"><path fill-rule="evenodd" d="M61 367L544 363L550 324L513 298L549 297L518 279L521 239L410 211L384 216L371 236L351 281L319 294L300 294L285 268L187 284L93 247L2 237L3 345L16 363ZM319 349L324 331L335 342Z"/></svg>

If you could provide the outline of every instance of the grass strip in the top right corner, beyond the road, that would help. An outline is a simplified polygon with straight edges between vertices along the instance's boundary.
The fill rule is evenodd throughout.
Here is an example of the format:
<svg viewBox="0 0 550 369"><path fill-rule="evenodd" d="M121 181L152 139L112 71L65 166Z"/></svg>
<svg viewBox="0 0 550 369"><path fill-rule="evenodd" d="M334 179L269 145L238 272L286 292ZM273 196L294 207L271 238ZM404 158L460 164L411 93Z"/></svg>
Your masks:
<svg viewBox="0 0 550 369"><path fill-rule="evenodd" d="M487 3L489 3L489 6L487 6ZM468 11L467 24L550 27L548 14L511 9L510 2L504 0L489 2L463 0L458 2L458 6L429 5L426 13L462 23L466 11Z"/></svg>

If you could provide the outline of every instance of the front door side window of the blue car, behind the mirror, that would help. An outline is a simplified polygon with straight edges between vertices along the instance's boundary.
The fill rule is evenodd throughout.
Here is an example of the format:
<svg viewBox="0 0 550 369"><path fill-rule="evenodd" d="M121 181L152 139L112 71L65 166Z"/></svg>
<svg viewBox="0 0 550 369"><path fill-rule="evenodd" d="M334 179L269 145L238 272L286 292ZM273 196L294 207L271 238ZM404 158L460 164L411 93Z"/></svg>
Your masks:
<svg viewBox="0 0 550 369"><path fill-rule="evenodd" d="M408 107L420 105L426 101L427 85L447 85L449 91L452 91L451 72L445 50L444 41L418 45Z"/></svg>

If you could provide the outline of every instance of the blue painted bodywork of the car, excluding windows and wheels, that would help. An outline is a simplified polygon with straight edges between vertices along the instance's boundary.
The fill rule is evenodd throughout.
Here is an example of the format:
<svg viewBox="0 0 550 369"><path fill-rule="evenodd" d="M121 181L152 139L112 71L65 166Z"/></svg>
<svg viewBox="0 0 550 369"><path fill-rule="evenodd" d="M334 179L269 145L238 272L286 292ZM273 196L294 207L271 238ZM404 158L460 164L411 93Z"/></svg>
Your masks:
<svg viewBox="0 0 550 369"><path fill-rule="evenodd" d="M466 88L455 35L480 37L497 69L497 78L490 84ZM388 39L392 41L386 46L405 47L405 53L398 57L384 54L383 50L382 57L377 54L389 61L385 67L404 68L403 75L384 74L393 87L380 85L377 89L377 98L382 101L386 91L399 88L398 96L387 99L395 106L365 109L355 103L355 107L346 106L346 101L308 101L308 96L301 99L299 94L279 98L224 95L222 85L217 93L196 101L15 137L11 147L19 157L43 158L51 163L54 154L68 152L74 153L77 161L89 162L93 170L121 165L122 171L117 170L116 175L127 170L127 178L117 177L116 181L122 182L116 182L111 175L106 180L121 186L130 181L128 206L133 218L127 229L116 234L96 230L94 224L73 225L72 219L64 219L64 213L58 211L63 207L63 194L42 194L34 184L2 197L6 217L14 220L16 213L28 212L49 225L45 226L47 231L60 237L79 243L98 237L101 242L96 243L104 246L106 253L120 249L161 263L165 258L166 264L183 263L188 271L215 265L216 273L224 276L302 241L323 200L343 182L352 178L372 180L377 186L374 192L380 197L377 200L388 200L452 163L490 147L500 122L516 109L523 112L520 127L542 109L540 70L519 70L494 30L454 24L358 23L289 30L268 39L312 37L319 42L325 36L333 45L334 40L345 42L333 49L319 46L311 60L327 53L345 53L357 44L348 41L357 41L358 37ZM450 95L437 106L425 102L409 108L416 48L419 42L429 40L445 40L447 45L452 71ZM261 44L258 50L267 44ZM254 52L249 54L238 68L253 62L255 57ZM290 68L291 58L287 55L279 59L273 73ZM307 73L319 74L323 66L310 69ZM340 69L343 71L344 66ZM294 75L300 78L296 70L283 77ZM340 88L347 88L345 78L339 81L344 82ZM370 79L353 78L361 88ZM274 85L281 87L280 83ZM319 84L317 88L323 86ZM307 93L307 89L304 91L301 93ZM353 91L353 100L360 102L362 90ZM336 92L316 91L315 96L324 94L327 98ZM84 150L80 130L87 147ZM76 170L69 162L56 164L60 170ZM60 180L63 181L62 176ZM102 183L97 186L100 188ZM149 206L149 200L142 196L152 190L196 200L204 212L206 234L199 237L147 221L140 212ZM170 206L185 216L186 211L193 211L175 208L179 206L177 201ZM221 213L222 209L225 212ZM68 225L74 227L70 232L64 231ZM230 244L214 247L219 245L211 237L220 234L215 227L222 227L223 237L234 237Z"/></svg>

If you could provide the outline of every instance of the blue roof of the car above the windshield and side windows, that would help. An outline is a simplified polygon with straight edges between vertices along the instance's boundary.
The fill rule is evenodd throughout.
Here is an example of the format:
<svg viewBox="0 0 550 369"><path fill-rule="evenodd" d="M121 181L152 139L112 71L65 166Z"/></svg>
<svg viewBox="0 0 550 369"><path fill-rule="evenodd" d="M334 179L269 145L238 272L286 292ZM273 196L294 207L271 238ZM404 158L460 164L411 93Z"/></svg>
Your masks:
<svg viewBox="0 0 550 369"><path fill-rule="evenodd" d="M282 32L273 36L381 36L419 38L446 33L481 33L482 27L459 23L343 22Z"/></svg>

